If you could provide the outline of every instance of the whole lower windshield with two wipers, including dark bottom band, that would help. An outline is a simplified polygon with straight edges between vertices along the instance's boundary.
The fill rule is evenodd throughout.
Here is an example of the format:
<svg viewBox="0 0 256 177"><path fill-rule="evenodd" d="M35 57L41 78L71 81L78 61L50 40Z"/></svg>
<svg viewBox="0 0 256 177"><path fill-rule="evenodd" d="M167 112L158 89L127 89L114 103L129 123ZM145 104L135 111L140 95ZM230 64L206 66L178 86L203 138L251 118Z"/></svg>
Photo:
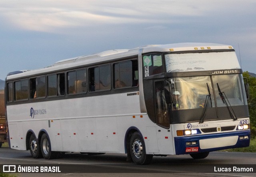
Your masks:
<svg viewBox="0 0 256 177"><path fill-rule="evenodd" d="M173 122L199 121L207 102L208 120L232 118L228 111L230 106L235 108L237 117L248 116L246 111L239 112L247 105L241 74L177 77L168 81ZM217 83L229 107L220 96Z"/></svg>

